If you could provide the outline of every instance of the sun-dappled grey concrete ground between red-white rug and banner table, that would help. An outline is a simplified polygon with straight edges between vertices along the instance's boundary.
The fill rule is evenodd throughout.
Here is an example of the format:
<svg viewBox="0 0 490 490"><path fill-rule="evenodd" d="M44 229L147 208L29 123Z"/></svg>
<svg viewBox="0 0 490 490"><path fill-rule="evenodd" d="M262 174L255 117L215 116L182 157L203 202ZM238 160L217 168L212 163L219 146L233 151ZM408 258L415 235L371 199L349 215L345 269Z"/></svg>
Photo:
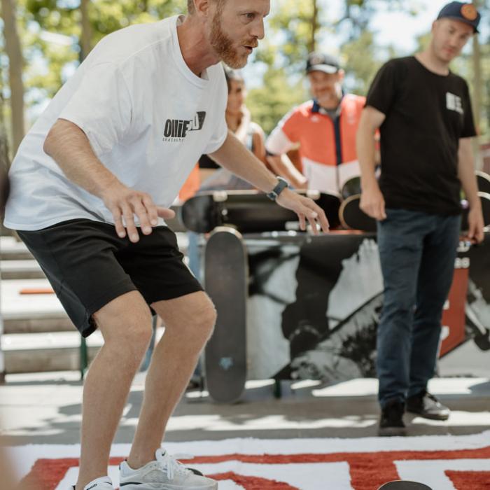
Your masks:
<svg viewBox="0 0 490 490"><path fill-rule="evenodd" d="M0 418L8 444L78 442L82 385L77 372L10 374L0 386ZM144 373L134 380L115 442L132 440L141 406ZM370 437L379 416L377 381L353 379L333 386L283 381L282 398L273 382L248 381L234 405L213 402L206 392L188 391L167 430L168 441L230 437ZM430 391L451 410L447 422L406 415L409 435L463 435L490 428L490 379L440 378Z"/></svg>

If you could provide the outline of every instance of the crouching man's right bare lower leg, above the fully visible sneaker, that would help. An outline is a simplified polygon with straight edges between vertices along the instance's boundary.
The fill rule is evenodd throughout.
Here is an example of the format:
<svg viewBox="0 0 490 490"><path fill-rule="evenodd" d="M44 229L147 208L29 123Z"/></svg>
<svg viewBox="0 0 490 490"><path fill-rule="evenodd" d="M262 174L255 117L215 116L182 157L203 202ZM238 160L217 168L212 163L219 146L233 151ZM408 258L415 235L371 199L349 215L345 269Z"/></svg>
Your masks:
<svg viewBox="0 0 490 490"><path fill-rule="evenodd" d="M214 306L202 292L160 301L152 307L163 319L165 334L155 347L146 376L139 423L127 459L134 469L155 458L167 422L216 322Z"/></svg>

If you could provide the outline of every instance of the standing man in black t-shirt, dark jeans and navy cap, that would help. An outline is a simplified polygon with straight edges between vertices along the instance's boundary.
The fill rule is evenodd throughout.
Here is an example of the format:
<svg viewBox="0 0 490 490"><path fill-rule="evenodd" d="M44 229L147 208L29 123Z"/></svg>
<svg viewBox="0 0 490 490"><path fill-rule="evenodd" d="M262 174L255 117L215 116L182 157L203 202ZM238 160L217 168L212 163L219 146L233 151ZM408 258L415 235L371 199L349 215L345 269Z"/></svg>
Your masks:
<svg viewBox="0 0 490 490"><path fill-rule="evenodd" d="M432 25L428 48L391 59L367 94L358 131L360 207L378 220L384 307L377 337L379 435L405 435L403 413L446 420L428 393L441 317L461 230L461 186L470 204L468 237L483 239L471 138L468 85L449 70L477 32L479 13L453 1ZM381 134L381 178L372 136Z"/></svg>

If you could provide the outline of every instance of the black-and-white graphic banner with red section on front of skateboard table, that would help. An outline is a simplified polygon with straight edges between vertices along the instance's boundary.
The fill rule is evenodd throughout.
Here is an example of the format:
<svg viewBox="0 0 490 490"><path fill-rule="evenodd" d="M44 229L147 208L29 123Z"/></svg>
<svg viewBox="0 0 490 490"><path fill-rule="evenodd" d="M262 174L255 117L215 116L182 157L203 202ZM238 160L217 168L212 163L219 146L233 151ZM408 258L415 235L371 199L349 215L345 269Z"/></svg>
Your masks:
<svg viewBox="0 0 490 490"><path fill-rule="evenodd" d="M248 377L375 377L383 280L374 235L325 235L299 246L276 241L248 247ZM440 348L440 365L451 375L484 375L484 366L489 372L489 248L486 235L481 246L462 242L458 249Z"/></svg>

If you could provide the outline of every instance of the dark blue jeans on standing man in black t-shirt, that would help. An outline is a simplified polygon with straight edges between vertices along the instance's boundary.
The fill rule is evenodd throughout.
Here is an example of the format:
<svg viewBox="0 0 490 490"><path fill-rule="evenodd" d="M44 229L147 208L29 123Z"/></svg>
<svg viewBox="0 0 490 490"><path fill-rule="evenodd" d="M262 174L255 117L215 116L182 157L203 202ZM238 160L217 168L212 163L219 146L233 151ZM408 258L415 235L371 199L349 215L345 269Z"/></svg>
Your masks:
<svg viewBox="0 0 490 490"><path fill-rule="evenodd" d="M460 216L386 209L378 223L384 304L377 334L381 407L427 387L454 273Z"/></svg>

